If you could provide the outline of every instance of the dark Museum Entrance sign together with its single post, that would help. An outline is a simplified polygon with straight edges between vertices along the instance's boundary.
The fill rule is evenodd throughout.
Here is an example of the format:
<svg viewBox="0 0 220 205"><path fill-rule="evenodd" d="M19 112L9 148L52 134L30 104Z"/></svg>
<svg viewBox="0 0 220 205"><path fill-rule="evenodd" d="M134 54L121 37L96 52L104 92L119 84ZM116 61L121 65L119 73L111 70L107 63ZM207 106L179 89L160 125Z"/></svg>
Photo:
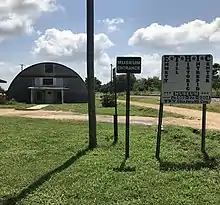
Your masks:
<svg viewBox="0 0 220 205"><path fill-rule="evenodd" d="M125 126L125 159L129 158L130 150L130 89L131 89L131 73L141 73L141 57L117 57L116 60L117 73L127 74L127 90L126 90L126 126Z"/></svg>

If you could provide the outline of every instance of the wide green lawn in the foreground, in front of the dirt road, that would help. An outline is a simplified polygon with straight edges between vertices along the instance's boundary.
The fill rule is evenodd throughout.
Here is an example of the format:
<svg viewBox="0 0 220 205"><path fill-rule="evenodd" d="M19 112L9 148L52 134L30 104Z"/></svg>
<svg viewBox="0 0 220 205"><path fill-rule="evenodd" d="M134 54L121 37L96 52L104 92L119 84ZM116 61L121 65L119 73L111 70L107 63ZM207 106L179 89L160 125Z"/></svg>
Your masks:
<svg viewBox="0 0 220 205"><path fill-rule="evenodd" d="M200 136L193 129L165 127L158 162L155 127L132 125L131 157L123 167L122 125L119 143L112 146L112 124L99 123L99 147L87 151L85 122L1 117L0 124L0 197L5 201L15 199L24 205L220 203L220 133L207 133L210 159L203 160Z"/></svg>

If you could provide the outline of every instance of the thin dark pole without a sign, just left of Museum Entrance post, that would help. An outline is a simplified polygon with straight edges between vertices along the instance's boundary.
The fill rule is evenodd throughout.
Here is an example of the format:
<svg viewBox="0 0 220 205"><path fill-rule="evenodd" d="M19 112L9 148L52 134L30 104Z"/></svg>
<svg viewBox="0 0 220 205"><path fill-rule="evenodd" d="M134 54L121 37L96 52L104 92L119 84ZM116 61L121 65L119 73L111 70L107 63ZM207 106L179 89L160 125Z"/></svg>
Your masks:
<svg viewBox="0 0 220 205"><path fill-rule="evenodd" d="M115 93L115 114L114 114L114 144L118 142L118 108L117 108L117 77L116 69L113 69L113 82Z"/></svg>

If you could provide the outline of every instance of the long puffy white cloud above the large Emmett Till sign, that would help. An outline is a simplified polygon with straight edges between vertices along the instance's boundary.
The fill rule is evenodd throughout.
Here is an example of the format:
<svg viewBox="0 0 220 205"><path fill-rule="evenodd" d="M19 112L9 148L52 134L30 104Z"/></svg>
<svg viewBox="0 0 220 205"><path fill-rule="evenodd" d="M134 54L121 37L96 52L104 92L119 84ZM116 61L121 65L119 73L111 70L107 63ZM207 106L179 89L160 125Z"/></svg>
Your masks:
<svg viewBox="0 0 220 205"><path fill-rule="evenodd" d="M134 32L128 44L153 52L210 52L220 46L220 18L210 23L197 19L176 27L153 23Z"/></svg>

